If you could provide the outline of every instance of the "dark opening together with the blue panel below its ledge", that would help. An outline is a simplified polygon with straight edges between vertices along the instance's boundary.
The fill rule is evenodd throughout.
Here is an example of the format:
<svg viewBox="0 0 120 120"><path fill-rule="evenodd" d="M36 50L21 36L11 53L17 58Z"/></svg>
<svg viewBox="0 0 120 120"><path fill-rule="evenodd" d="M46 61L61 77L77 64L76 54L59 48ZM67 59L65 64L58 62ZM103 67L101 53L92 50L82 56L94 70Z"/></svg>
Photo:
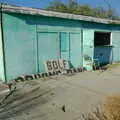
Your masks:
<svg viewBox="0 0 120 120"><path fill-rule="evenodd" d="M101 64L108 64L112 60L111 32L94 32L94 59Z"/></svg>

